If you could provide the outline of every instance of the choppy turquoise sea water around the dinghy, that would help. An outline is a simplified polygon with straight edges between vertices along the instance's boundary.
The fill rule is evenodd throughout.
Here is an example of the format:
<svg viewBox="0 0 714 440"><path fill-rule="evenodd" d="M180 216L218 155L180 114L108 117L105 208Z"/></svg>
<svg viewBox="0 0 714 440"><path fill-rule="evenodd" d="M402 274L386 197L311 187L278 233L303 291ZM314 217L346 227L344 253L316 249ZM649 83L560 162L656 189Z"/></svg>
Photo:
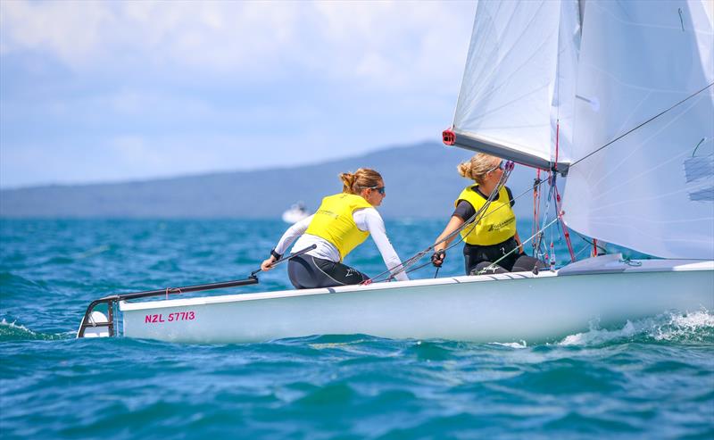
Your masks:
<svg viewBox="0 0 714 440"><path fill-rule="evenodd" d="M386 225L403 257L443 226ZM714 437L710 311L591 328L547 345L365 335L246 345L74 339L91 300L245 278L285 227L0 220L0 437ZM527 224L519 230L528 236ZM559 243L560 262L566 254ZM383 270L371 243L350 263ZM461 270L457 249L439 275ZM231 292L286 287L281 268Z"/></svg>

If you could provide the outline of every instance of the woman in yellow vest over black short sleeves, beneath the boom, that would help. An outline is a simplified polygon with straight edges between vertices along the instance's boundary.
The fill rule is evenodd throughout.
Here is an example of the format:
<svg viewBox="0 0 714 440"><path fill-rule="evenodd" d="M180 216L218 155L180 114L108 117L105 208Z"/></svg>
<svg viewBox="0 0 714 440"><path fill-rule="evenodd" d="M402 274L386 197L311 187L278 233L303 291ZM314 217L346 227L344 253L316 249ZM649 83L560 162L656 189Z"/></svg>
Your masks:
<svg viewBox="0 0 714 440"><path fill-rule="evenodd" d="M459 164L459 174L473 179L474 183L461 191L454 203L456 209L451 220L436 238L435 253L431 258L436 267L440 267L444 262L444 249L455 237L445 241L444 238L483 208L494 190L498 190L498 194L494 196L486 212L479 214L481 220L461 230L466 274L477 273L499 260L491 272L533 270L535 265L544 267L541 262L523 253L516 228L516 215L512 209L515 202L511 189L505 186L497 188L503 175L504 162L498 157L479 153L468 162Z"/></svg>

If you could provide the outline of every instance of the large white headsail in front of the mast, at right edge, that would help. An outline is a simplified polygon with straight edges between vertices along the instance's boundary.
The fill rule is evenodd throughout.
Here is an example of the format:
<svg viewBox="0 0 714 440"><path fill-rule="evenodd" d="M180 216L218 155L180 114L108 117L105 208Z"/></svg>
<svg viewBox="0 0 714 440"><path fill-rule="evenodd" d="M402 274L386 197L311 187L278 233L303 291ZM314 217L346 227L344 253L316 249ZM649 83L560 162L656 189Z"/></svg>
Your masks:
<svg viewBox="0 0 714 440"><path fill-rule="evenodd" d="M660 257L714 259L711 5L585 4L570 228Z"/></svg>

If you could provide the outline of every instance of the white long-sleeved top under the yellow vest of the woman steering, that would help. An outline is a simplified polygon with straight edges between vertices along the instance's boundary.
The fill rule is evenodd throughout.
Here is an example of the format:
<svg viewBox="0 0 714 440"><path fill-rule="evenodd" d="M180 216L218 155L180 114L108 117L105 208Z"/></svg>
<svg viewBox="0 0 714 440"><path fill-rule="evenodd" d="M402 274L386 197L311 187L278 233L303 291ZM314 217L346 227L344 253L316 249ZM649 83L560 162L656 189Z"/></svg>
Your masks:
<svg viewBox="0 0 714 440"><path fill-rule="evenodd" d="M379 253L382 254L386 268L394 275L396 270L402 268L402 260L400 260L399 255L394 252L394 246L392 246L389 238L386 237L385 222L382 220L382 216L379 215L379 212L374 208L362 208L353 212L352 215L354 222L357 224L357 228L361 231L369 232L369 235L377 245ZM275 246L275 252L282 255L286 252L287 248L295 242L295 238L300 237L297 238L293 246L293 253L301 251L311 245L317 245L315 249L307 252L307 254L323 260L329 260L330 262L339 262L340 253L328 240L311 234L305 234L305 231L310 226L312 217L314 217L314 214L287 228L283 237L278 241L278 245ZM394 270L392 270L393 268ZM397 281L406 281L409 279L404 271L396 273L394 278L396 278Z"/></svg>

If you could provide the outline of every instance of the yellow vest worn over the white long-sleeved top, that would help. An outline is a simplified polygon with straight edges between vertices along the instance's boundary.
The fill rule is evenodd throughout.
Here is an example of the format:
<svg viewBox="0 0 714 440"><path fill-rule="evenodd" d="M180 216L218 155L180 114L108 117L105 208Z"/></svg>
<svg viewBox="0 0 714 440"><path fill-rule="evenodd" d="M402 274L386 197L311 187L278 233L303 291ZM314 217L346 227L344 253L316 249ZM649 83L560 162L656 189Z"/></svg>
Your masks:
<svg viewBox="0 0 714 440"><path fill-rule="evenodd" d="M371 207L372 205L360 195L346 193L328 195L322 199L320 208L315 212L315 217L312 218L305 234L324 238L335 245L342 261L348 253L369 237L369 232L357 228L352 216L353 212Z"/></svg>

